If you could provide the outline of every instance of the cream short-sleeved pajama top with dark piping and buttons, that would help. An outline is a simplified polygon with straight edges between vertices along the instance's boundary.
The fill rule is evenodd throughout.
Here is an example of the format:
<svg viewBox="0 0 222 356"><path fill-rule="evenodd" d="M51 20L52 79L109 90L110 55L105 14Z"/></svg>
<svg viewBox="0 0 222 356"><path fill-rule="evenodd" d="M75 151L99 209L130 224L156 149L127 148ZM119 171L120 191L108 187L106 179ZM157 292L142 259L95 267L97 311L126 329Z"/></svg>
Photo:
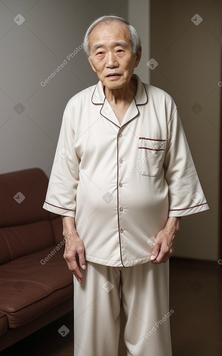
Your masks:
<svg viewBox="0 0 222 356"><path fill-rule="evenodd" d="M169 216L207 210L172 97L137 81L120 125L99 81L64 110L44 209L75 218L86 260L150 260Z"/></svg>

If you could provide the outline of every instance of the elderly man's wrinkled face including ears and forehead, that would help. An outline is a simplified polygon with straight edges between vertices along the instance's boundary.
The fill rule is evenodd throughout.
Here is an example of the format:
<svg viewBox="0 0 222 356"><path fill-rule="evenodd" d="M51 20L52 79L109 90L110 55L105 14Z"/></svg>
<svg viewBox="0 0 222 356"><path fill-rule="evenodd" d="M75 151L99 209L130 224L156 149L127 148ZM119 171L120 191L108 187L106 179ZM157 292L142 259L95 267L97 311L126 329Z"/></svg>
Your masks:
<svg viewBox="0 0 222 356"><path fill-rule="evenodd" d="M98 24L90 33L89 45L89 63L107 89L122 88L130 81L140 61L141 46L133 54L124 23L114 20Z"/></svg>

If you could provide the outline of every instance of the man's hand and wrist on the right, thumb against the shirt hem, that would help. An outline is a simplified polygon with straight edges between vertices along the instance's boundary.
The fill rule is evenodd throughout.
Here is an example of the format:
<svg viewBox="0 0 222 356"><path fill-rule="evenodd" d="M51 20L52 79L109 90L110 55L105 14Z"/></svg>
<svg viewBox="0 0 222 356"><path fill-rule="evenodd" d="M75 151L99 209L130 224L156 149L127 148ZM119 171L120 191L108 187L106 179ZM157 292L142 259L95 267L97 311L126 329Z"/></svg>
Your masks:
<svg viewBox="0 0 222 356"><path fill-rule="evenodd" d="M165 263L173 254L180 220L181 217L169 217L164 229L157 234L150 258L153 263Z"/></svg>

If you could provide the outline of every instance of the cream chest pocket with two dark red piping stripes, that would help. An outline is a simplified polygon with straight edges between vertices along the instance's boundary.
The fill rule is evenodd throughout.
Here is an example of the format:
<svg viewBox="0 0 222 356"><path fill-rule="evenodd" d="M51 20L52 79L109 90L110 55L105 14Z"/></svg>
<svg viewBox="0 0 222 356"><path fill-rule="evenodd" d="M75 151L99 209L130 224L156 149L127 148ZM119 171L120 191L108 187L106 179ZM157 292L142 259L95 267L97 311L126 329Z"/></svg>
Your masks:
<svg viewBox="0 0 222 356"><path fill-rule="evenodd" d="M161 172L165 156L166 140L139 138L138 165L143 176L156 177Z"/></svg>

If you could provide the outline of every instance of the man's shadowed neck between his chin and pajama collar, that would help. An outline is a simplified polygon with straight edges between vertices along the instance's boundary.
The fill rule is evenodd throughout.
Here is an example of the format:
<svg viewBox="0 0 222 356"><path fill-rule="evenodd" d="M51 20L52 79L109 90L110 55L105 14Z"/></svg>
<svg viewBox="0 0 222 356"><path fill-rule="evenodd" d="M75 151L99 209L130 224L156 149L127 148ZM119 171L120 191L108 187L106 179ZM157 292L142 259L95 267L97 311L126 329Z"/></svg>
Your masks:
<svg viewBox="0 0 222 356"><path fill-rule="evenodd" d="M131 103L133 97L135 97L137 91L137 81L132 79L124 85L122 88L118 89L108 89L104 88L105 97L109 102L114 104L118 103Z"/></svg>

